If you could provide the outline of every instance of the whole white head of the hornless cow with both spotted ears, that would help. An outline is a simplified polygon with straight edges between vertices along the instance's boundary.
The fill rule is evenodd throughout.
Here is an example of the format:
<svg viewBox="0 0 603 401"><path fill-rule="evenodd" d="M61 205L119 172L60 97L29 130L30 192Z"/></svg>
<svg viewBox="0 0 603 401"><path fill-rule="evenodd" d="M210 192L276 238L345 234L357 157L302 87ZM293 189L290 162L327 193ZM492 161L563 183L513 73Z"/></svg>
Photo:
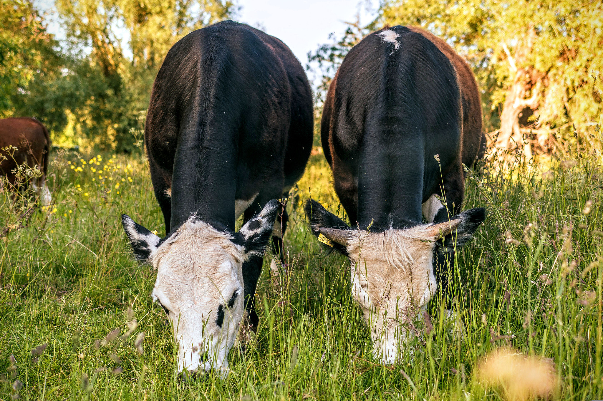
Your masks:
<svg viewBox="0 0 603 401"><path fill-rule="evenodd" d="M277 201L270 201L239 233L218 231L192 216L163 241L122 215L136 259L157 269L152 296L174 329L178 373L213 368L223 378L228 374L244 310L242 264L264 252L277 210Z"/></svg>

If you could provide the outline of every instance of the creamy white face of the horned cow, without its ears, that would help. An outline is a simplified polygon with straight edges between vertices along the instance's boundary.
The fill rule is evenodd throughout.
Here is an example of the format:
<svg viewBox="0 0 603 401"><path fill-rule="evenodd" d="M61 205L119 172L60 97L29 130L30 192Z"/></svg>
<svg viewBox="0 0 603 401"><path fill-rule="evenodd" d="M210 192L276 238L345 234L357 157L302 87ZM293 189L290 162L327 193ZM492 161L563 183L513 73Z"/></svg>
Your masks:
<svg viewBox="0 0 603 401"><path fill-rule="evenodd" d="M448 227L459 221L446 222ZM427 304L437 289L433 272L435 240L450 232L440 225L421 225L380 233L352 231L347 252L352 293L371 330L373 354L391 364L400 357L410 311ZM414 313L413 313L414 314Z"/></svg>

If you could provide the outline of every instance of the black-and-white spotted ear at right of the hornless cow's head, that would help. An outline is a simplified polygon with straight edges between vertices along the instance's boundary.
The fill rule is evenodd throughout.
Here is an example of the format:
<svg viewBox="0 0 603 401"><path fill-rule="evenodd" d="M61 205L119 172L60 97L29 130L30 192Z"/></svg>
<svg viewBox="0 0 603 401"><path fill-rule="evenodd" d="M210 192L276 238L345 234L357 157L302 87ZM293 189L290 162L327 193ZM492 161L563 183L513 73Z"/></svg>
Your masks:
<svg viewBox="0 0 603 401"><path fill-rule="evenodd" d="M247 221L239 234L245 248L245 258L250 256L264 256L264 249L272 236L274 221L279 213L281 204L278 200L269 201L259 215Z"/></svg>

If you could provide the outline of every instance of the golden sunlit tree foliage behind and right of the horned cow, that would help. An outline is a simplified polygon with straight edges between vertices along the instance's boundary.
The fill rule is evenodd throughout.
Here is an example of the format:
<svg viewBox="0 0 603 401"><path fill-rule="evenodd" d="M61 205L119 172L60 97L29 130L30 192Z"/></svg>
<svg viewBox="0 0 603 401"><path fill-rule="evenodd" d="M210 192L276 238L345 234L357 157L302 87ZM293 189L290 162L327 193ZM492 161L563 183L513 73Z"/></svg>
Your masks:
<svg viewBox="0 0 603 401"><path fill-rule="evenodd" d="M522 126L531 126L532 139L545 146L553 130L573 135L572 124L600 124L601 2L386 0L370 25L350 25L313 60L336 68L353 44L388 25L422 26L466 58L483 93L484 129L500 127L503 147L522 141Z"/></svg>

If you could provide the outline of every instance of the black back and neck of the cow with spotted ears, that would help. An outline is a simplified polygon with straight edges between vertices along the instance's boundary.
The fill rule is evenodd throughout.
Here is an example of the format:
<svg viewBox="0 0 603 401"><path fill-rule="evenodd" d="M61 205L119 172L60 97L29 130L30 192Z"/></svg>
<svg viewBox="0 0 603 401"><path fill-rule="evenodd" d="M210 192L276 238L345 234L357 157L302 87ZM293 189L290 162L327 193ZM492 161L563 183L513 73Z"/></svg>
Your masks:
<svg viewBox="0 0 603 401"><path fill-rule="evenodd" d="M235 215L235 199L263 189L280 197L311 150L305 73L282 42L250 26L225 21L194 31L157 75L145 140L151 175L157 165L171 186L171 227L191 210L209 221ZM175 208L180 200L188 206Z"/></svg>

